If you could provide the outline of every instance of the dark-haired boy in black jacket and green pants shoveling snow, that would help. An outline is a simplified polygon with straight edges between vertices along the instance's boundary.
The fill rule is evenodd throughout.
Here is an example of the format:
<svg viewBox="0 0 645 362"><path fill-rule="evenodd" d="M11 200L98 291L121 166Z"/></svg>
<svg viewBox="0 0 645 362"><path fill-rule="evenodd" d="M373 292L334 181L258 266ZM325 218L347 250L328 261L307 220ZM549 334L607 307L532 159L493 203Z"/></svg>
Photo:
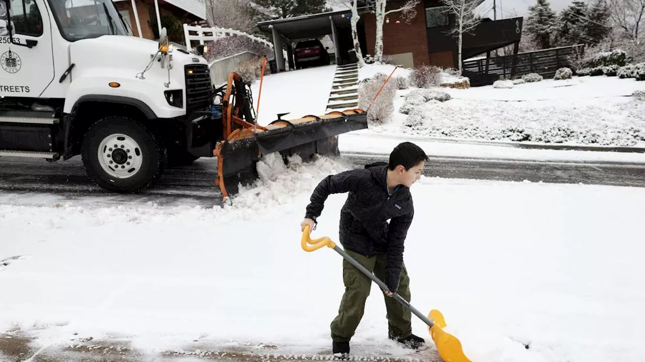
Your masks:
<svg viewBox="0 0 645 362"><path fill-rule="evenodd" d="M390 153L390 161L368 164L324 178L313 190L301 223L313 230L330 194L348 193L341 209L339 241L344 250L390 289L385 292L388 338L418 349L424 339L412 334L412 313L392 297L397 292L410 301L410 278L403 263L403 249L414 207L410 186L421 178L426 153L403 142ZM390 220L388 224L388 220ZM342 262L345 292L338 315L331 324L332 350L348 357L350 339L361 321L372 280L347 260Z"/></svg>

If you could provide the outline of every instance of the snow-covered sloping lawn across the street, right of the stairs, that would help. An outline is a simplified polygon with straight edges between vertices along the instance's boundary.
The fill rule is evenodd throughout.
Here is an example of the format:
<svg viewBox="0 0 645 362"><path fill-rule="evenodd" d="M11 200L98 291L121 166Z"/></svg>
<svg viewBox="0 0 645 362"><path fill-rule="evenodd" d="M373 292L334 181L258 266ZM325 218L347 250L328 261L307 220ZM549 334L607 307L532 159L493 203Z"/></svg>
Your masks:
<svg viewBox="0 0 645 362"><path fill-rule="evenodd" d="M555 144L645 146L645 102L631 96L645 82L617 77L573 79L466 90L401 108L413 89L397 91L393 119L371 127L377 133L439 138L528 141ZM410 111L410 108L413 111ZM410 113L410 114L408 114ZM416 114L413 114L416 113Z"/></svg>

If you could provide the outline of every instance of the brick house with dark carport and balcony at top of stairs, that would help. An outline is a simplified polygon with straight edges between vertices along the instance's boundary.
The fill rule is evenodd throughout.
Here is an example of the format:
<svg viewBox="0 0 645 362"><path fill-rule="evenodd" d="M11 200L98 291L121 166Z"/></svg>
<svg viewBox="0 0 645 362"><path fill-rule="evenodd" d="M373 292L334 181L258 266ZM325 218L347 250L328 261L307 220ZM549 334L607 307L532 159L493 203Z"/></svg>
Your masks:
<svg viewBox="0 0 645 362"><path fill-rule="evenodd" d="M406 0L388 0L386 11L400 8ZM483 0L479 0L483 1ZM363 1L364 3L364 1ZM373 8L359 0L357 32L363 55L374 53L376 15ZM383 54L390 55L398 64L412 68L421 64L457 68L459 52L457 38L448 35L455 19L444 13L441 0L421 0L417 15L411 21L401 19L401 13L387 16L383 24ZM302 15L287 19L261 21L259 30L273 39L275 59L279 71L293 69L292 44L299 39L331 35L337 64L352 62L352 11L335 10L321 14ZM397 23L398 21L398 23ZM515 44L515 52L522 35L522 17L492 21L482 19L473 34L463 37L462 60L488 53L504 46ZM282 50L286 50L286 59Z"/></svg>

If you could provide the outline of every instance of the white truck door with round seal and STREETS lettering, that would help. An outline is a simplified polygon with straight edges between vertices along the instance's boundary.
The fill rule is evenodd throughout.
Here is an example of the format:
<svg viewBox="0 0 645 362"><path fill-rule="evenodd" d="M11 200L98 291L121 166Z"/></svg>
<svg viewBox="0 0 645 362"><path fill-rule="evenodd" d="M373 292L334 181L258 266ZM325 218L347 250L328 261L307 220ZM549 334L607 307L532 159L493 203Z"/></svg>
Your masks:
<svg viewBox="0 0 645 362"><path fill-rule="evenodd" d="M0 0L0 95L39 97L54 80L52 26L43 0ZM14 43L9 37L12 24ZM28 48L26 44L31 44Z"/></svg>

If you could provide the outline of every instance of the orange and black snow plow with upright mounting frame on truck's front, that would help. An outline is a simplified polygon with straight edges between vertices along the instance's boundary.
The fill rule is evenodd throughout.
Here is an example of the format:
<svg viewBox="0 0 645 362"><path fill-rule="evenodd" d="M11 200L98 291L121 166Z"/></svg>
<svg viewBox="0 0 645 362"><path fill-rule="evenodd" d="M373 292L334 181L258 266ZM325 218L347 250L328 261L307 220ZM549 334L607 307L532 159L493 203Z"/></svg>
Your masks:
<svg viewBox="0 0 645 362"><path fill-rule="evenodd" d="M278 115L267 126L259 126L253 115L250 93L241 77L230 73L222 91L222 137L215 143L217 186L224 196L239 192L239 186L258 178L255 164L263 155L279 152L283 158L299 155L304 162L314 155L339 155L338 135L368 127L367 112L361 109L333 111L285 120Z"/></svg>

